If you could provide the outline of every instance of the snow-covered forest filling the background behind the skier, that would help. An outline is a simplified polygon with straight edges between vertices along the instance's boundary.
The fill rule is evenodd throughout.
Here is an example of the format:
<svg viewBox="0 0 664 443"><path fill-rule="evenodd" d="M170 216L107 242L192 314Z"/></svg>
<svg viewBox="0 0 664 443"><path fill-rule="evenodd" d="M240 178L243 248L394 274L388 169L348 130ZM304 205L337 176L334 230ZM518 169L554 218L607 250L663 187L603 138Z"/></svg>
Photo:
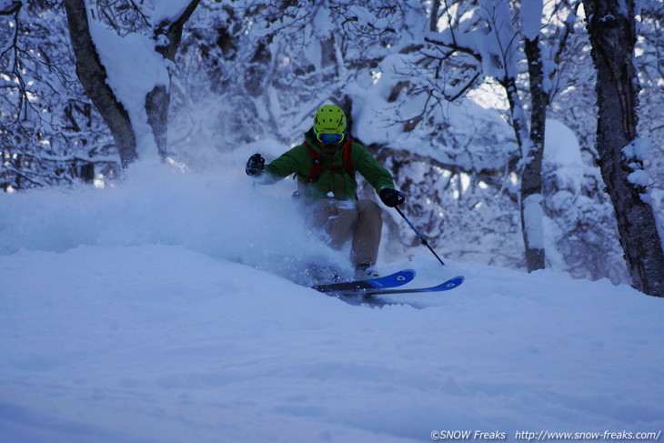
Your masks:
<svg viewBox="0 0 664 443"><path fill-rule="evenodd" d="M137 159L225 174L225 154L276 156L336 103L442 255L664 291L659 1L2 0L0 14L2 198L119 186ZM417 245L386 221L387 253Z"/></svg>

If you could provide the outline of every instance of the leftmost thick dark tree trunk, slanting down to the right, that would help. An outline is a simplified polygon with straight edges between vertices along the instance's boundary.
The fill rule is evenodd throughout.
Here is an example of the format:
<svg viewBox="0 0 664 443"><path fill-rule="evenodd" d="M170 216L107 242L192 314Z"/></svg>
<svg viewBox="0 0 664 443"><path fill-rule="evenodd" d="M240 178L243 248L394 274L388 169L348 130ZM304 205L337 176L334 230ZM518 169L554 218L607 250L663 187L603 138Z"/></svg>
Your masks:
<svg viewBox="0 0 664 443"><path fill-rule="evenodd" d="M76 75L111 130L123 167L136 160L136 134L129 114L106 83L106 68L90 36L85 0L65 0L69 35L76 56Z"/></svg>

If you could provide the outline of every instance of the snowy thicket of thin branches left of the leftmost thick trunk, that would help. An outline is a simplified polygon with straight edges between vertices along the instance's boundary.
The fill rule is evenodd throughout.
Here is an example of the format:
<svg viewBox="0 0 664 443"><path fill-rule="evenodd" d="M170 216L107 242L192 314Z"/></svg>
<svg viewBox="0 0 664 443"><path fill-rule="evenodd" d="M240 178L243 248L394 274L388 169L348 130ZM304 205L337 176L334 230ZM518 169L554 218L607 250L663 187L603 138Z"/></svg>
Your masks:
<svg viewBox="0 0 664 443"><path fill-rule="evenodd" d="M0 3L0 188L111 175L110 136L76 79L62 5Z"/></svg>

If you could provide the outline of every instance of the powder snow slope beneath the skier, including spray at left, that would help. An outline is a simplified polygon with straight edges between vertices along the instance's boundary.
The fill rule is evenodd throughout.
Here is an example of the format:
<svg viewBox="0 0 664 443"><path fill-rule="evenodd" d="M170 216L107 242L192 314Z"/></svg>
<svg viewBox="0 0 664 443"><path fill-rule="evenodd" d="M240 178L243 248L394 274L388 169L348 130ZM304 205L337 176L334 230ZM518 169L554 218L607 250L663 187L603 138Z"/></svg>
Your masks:
<svg viewBox="0 0 664 443"><path fill-rule="evenodd" d="M0 196L3 441L664 429L664 300L549 271L440 267L418 247L378 269L415 268L413 287L466 282L347 305L291 281L345 252L297 221L292 182L250 184L255 147L223 173L139 164L105 188Z"/></svg>

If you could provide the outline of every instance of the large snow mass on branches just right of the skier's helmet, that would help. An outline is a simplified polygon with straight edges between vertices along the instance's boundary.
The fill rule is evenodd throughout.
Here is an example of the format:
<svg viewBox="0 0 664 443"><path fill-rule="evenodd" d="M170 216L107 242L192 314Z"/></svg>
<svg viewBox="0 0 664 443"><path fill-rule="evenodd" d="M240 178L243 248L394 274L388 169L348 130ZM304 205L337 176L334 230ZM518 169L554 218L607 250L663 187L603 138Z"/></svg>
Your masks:
<svg viewBox="0 0 664 443"><path fill-rule="evenodd" d="M371 80L375 83L367 85L359 81L347 87L348 94L354 97L354 127L362 128L358 133L362 142L417 152L442 163L468 168L504 166L506 146L514 146L513 130L495 109L484 108L473 100L462 98L458 103L446 103L428 116L433 124L446 127L433 143L423 142L424 133L430 130L428 126L418 125L407 131L403 124L397 123L420 117L427 101L426 95L403 102L388 100L397 83L403 80L403 73L412 68L407 55L389 55L377 67L377 78ZM446 132L453 135L456 145L449 142ZM484 140L485 137L490 140ZM459 146L473 146L472 154Z"/></svg>

